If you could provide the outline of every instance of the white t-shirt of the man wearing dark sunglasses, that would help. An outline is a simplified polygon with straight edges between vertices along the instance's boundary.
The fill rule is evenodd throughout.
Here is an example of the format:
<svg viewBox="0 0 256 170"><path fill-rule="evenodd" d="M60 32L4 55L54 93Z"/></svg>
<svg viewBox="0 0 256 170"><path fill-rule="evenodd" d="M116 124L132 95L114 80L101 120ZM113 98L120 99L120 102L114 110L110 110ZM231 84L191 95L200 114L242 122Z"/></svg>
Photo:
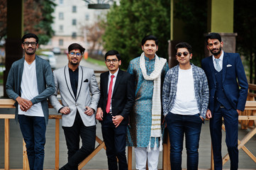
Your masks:
<svg viewBox="0 0 256 170"><path fill-rule="evenodd" d="M190 69L179 68L177 93L171 112L179 115L196 115L200 113L194 91L192 67Z"/></svg>

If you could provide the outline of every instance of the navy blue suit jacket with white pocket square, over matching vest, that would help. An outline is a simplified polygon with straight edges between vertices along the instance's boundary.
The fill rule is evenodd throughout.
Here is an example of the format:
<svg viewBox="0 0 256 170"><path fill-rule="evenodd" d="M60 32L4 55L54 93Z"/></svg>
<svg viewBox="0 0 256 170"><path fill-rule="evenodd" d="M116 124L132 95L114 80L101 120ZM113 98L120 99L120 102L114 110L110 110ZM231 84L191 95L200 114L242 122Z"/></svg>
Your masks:
<svg viewBox="0 0 256 170"><path fill-rule="evenodd" d="M201 66L206 73L210 91L208 109L210 109L210 111L213 113L214 95L216 92L216 77L212 56L204 58L201 61ZM231 106L233 106L234 109L244 111L248 92L248 84L240 55L238 53L224 52L222 71L223 90L228 98L229 103Z"/></svg>

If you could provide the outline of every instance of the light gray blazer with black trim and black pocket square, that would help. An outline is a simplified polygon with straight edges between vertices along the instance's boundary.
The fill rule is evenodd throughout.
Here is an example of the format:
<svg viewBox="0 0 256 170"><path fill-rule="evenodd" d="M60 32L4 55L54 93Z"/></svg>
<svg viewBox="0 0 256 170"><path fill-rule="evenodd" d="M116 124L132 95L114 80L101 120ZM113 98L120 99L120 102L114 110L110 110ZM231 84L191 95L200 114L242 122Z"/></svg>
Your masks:
<svg viewBox="0 0 256 170"><path fill-rule="evenodd" d="M88 116L84 113L85 106L96 111L100 91L94 75L94 70L79 66L77 96L74 96L69 79L69 68L66 65L53 72L55 79L55 93L50 96L50 103L58 112L63 106L70 108L70 113L62 115L62 126L72 127L77 111L79 112L85 126L96 125L95 113ZM62 104L57 99L57 91L60 91Z"/></svg>

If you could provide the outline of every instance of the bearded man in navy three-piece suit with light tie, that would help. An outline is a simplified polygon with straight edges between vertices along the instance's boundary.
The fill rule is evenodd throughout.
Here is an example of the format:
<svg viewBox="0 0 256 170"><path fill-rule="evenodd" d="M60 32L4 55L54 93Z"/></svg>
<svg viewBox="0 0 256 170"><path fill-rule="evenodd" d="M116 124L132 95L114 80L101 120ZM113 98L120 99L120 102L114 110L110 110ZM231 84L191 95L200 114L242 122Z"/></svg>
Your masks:
<svg viewBox="0 0 256 170"><path fill-rule="evenodd" d="M238 115L245 109L248 84L238 53L223 52L221 35L206 35L208 50L213 56L201 61L206 73L210 100L206 118L210 119L214 169L222 169L221 126L226 128L226 145L230 157L230 169L238 169Z"/></svg>

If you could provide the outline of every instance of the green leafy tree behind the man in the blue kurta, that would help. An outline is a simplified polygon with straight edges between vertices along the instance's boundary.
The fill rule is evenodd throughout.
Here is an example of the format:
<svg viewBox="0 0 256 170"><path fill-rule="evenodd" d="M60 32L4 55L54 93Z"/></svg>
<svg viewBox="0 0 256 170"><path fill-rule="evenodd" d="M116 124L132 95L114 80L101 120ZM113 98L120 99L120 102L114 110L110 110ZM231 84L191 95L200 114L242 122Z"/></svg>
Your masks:
<svg viewBox="0 0 256 170"><path fill-rule="evenodd" d="M145 35L157 36L157 55L168 57L169 3L169 0L121 0L120 6L113 4L104 23L104 48L121 53L123 69L128 67L130 60L140 56L141 40Z"/></svg>

